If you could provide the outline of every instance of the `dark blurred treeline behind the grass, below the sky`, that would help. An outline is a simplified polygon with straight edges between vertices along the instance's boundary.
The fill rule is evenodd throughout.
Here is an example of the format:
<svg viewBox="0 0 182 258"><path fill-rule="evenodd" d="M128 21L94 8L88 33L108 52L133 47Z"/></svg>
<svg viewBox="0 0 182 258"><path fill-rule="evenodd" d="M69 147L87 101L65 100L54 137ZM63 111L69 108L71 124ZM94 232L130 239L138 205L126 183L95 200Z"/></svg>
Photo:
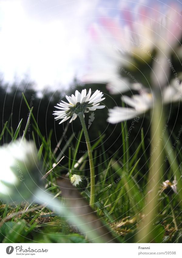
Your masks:
<svg viewBox="0 0 182 258"><path fill-rule="evenodd" d="M22 136L23 130L25 129L29 110L27 105L25 104L24 99L22 98L22 92L25 95L25 98L29 104L30 107L33 107L33 115L35 116L35 119L37 121L38 127L40 129L40 132L45 137L45 139L48 139L49 133L52 130L52 137L51 137L51 150L54 150L56 147L57 142L59 141L60 137L62 136L63 130L66 126L67 121L64 124L59 125L59 120L56 121L54 119L54 115L52 115L53 111L56 110L54 106L61 100L66 100L65 95L71 95L75 93L75 90L81 91L82 88L86 88L89 90L89 88L92 89L92 91L95 91L96 89L99 89L100 91L103 91L104 96L106 99L103 101L103 105L106 105L106 108L96 110L93 112L94 120L91 123L91 126L89 127L89 137L91 144L93 144L101 135L105 134L105 137L103 139L103 144L99 144L97 149L97 157L98 157L98 163L102 162L100 154L105 152L107 154L107 157L110 159L113 157L114 153L117 153L115 155L116 158L119 158L123 155L123 147L122 147L122 135L121 135L121 125L120 123L117 125L112 125L106 122L106 119L108 117L108 109L113 108L114 106L118 105L121 106L121 95L110 95L109 92L106 89L105 84L85 84L81 85L79 83L74 82L70 86L70 89L67 91L44 91L42 92L42 96L38 97L37 92L34 88L34 83L32 82L26 82L25 80L22 81L20 84L17 84L16 82L11 85L11 87L8 87L8 84L5 84L1 82L0 84L0 105L1 105L1 114L0 114L0 124L1 128L0 131L2 131L2 128L6 121L8 121L8 129L13 132L15 132L17 126L19 125L19 122L22 120L22 125L19 133L19 137ZM131 95L129 93L128 95ZM180 114L179 105L173 104L172 109L171 106L167 106L167 114L169 116L169 130L173 130L174 134L177 134L180 130L180 116L177 114ZM85 114L85 120L86 125L88 127L89 125L89 115L91 113ZM147 148L147 153L149 155L150 149L150 118L149 112L145 114L145 117L140 116L140 119L137 122L134 122L134 128L130 130L129 137L127 139L129 143L129 150L130 155L132 155L135 151L137 146L139 145L141 141L141 128L143 127L144 132L144 139L145 139L145 146ZM133 122L133 119L130 119L127 122L124 122L124 125L127 125L126 133L128 132L131 124ZM174 128L174 129L173 129ZM82 129L81 123L79 121L79 118L77 118L75 121L73 121L71 124L69 124L68 131L66 132L66 137L69 139L71 134L74 132L74 137L72 139L71 145L75 147L76 144L76 138L78 137L79 131ZM29 129L26 133L27 139L32 139L32 132L34 132L37 147L41 145L41 139L37 136L35 124L31 118ZM12 137L10 136L10 133L8 130L6 130L4 137L1 140L1 145L4 143L8 143L12 140ZM79 152L77 153L77 158L81 157L83 155L83 151L86 150L86 143L84 136L82 136L82 142L79 146ZM66 144L66 140L63 139L62 144L60 146L60 150L64 147ZM66 150L65 155L68 155L68 149ZM142 150L141 150L142 155ZM103 155L102 155L103 156ZM141 161L142 162L142 161ZM144 162L144 160L143 160ZM141 164L142 165L142 164Z"/></svg>

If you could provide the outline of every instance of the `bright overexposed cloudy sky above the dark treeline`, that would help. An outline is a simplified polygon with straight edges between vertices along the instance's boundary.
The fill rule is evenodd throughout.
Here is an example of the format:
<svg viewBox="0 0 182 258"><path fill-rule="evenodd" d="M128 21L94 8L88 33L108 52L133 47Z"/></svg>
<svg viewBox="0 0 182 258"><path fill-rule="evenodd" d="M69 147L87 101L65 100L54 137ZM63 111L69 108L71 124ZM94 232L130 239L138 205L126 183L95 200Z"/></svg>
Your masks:
<svg viewBox="0 0 182 258"><path fill-rule="evenodd" d="M164 1L164 0L163 0ZM18 81L28 74L39 89L67 87L84 73L89 24L134 1L0 0L0 73ZM137 5L147 1L135 1ZM169 2L169 1L164 1ZM104 3L105 9L98 9Z"/></svg>

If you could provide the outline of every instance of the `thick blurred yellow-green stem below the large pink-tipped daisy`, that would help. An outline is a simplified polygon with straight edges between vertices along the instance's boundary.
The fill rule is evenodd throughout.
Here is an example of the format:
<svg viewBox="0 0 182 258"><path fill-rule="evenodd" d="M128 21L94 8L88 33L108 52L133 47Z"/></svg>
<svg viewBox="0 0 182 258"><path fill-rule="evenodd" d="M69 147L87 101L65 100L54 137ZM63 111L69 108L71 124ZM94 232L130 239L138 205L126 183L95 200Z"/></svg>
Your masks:
<svg viewBox="0 0 182 258"><path fill-rule="evenodd" d="M163 167L163 144L161 137L163 129L162 99L158 98L154 104L153 110L151 110L150 170L145 207L143 209L144 218L141 220L140 231L137 234L138 243L149 243L153 236L153 223L155 222L157 214L157 194L159 191L161 169Z"/></svg>

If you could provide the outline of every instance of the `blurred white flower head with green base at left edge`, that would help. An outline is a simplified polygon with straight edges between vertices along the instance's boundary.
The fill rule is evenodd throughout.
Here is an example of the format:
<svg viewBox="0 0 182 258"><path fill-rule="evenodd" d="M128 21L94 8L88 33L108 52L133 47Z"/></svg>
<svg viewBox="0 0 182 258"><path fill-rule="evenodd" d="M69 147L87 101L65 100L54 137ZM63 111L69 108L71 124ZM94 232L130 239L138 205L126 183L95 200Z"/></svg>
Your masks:
<svg viewBox="0 0 182 258"><path fill-rule="evenodd" d="M0 147L0 199L23 201L40 185L37 151L33 142L15 141Z"/></svg>

